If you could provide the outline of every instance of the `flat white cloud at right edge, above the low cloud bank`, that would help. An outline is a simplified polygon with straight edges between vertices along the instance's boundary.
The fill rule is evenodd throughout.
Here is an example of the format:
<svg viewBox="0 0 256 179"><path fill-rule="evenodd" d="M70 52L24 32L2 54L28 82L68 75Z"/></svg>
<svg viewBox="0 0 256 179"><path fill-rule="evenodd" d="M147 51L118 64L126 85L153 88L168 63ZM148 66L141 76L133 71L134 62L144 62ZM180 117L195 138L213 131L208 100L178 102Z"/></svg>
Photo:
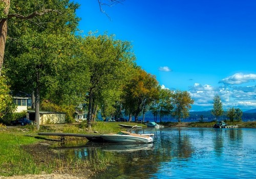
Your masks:
<svg viewBox="0 0 256 179"><path fill-rule="evenodd" d="M232 76L222 79L219 83L224 84L242 84L256 80L256 74L236 73Z"/></svg>

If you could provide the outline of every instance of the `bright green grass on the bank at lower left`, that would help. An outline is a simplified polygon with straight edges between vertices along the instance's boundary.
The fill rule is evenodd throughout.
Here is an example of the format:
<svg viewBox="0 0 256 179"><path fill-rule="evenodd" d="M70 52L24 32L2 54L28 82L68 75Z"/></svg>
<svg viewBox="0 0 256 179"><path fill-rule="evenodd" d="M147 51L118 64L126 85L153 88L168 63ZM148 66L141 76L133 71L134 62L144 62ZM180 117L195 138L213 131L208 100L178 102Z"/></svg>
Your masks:
<svg viewBox="0 0 256 179"><path fill-rule="evenodd" d="M0 175L39 174L41 171L50 173L51 168L45 165L37 165L32 155L23 150L22 145L29 145L39 140L25 136L21 131L0 131Z"/></svg>

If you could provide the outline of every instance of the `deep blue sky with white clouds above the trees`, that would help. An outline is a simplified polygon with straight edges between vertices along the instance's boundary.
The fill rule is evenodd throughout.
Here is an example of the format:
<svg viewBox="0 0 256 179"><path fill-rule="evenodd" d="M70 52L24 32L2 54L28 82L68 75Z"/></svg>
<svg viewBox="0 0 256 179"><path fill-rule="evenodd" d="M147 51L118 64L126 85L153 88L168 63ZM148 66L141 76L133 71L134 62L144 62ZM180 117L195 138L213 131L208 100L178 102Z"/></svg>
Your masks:
<svg viewBox="0 0 256 179"><path fill-rule="evenodd" d="M136 63L169 89L188 91L191 111L256 108L255 0L126 0L113 7L97 0L81 6L79 29L131 41ZM103 1L107 2L107 1Z"/></svg>

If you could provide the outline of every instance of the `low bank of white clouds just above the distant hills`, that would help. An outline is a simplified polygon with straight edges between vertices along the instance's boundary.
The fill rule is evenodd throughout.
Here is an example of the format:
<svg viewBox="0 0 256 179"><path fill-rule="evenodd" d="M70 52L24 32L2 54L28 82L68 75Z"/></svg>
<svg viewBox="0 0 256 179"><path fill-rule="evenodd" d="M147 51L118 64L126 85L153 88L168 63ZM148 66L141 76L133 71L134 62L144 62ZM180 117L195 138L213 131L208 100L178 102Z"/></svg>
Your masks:
<svg viewBox="0 0 256 179"><path fill-rule="evenodd" d="M254 86L225 86L195 83L189 88L194 104L191 110L211 110L215 95L220 95L223 109L238 107L242 110L256 108L256 85Z"/></svg>

